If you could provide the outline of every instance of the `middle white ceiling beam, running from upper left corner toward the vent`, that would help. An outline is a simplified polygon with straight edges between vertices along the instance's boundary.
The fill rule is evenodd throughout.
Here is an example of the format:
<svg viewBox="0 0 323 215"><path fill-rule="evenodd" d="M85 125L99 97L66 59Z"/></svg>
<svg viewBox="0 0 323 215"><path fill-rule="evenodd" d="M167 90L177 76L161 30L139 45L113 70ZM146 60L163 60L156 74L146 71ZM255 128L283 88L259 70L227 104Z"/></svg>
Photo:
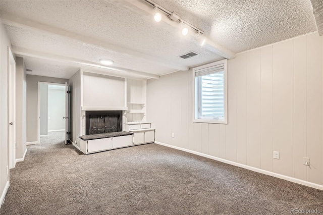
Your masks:
<svg viewBox="0 0 323 215"><path fill-rule="evenodd" d="M98 47L102 47L105 49L109 49L112 51L116 51L116 52L124 53L126 55L130 55L131 58L143 60L146 62L151 62L154 64L158 64L160 66L164 66L164 67L168 67L168 68L172 68L172 69L177 69L177 70L182 70L182 71L189 70L189 68L187 66L180 65L175 62L156 58L151 55L146 55L144 53L141 53L139 51L131 50L129 48L117 46L114 44L110 44L110 43L107 43L107 42L104 42L104 41L101 41L101 40L98 40L98 39L95 39L92 37L69 32L69 31L66 31L66 30L63 30L60 28L45 25L45 24L35 22L32 20L28 20L25 18L20 18L17 16L8 15L8 14L1 14L0 18L2 20L2 23L6 24L6 25L11 25L11 26L15 26L15 27L23 28L23 29L37 30L42 33L46 33L48 35L60 36L60 37L68 38L73 41L81 41L83 43L95 45Z"/></svg>

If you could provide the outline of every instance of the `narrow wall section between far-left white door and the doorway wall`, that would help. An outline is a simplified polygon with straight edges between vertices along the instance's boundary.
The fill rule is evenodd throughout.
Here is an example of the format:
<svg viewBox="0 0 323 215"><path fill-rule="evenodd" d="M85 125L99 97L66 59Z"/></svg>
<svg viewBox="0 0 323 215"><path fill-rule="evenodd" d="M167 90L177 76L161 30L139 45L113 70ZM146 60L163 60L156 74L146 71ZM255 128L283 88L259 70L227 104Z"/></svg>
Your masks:
<svg viewBox="0 0 323 215"><path fill-rule="evenodd" d="M22 58L16 58L16 159L26 152L26 67Z"/></svg>

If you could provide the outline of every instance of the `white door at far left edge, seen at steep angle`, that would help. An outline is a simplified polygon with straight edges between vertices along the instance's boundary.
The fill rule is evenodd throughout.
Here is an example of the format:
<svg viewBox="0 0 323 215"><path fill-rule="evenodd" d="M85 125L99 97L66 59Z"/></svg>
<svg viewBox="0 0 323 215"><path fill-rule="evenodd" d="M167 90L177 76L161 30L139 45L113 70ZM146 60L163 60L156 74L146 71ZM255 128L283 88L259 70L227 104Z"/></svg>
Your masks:
<svg viewBox="0 0 323 215"><path fill-rule="evenodd" d="M16 62L8 47L8 163L16 166Z"/></svg>

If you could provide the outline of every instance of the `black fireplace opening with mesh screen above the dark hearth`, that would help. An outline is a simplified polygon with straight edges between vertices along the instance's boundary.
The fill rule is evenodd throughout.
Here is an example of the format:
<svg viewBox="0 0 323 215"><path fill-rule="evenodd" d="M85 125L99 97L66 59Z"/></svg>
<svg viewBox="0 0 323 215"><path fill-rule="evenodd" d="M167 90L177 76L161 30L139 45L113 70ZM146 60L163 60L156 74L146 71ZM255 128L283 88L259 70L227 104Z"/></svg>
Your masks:
<svg viewBox="0 0 323 215"><path fill-rule="evenodd" d="M122 131L122 111L86 111L86 135Z"/></svg>

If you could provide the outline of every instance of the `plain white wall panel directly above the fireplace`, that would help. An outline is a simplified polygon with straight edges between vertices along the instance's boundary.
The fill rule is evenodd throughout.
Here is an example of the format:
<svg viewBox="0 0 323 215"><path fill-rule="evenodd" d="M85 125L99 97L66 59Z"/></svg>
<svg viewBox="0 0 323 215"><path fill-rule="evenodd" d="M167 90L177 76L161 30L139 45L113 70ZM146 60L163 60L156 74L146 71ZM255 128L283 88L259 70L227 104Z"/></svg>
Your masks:
<svg viewBox="0 0 323 215"><path fill-rule="evenodd" d="M125 79L83 74L84 106L125 106Z"/></svg>

